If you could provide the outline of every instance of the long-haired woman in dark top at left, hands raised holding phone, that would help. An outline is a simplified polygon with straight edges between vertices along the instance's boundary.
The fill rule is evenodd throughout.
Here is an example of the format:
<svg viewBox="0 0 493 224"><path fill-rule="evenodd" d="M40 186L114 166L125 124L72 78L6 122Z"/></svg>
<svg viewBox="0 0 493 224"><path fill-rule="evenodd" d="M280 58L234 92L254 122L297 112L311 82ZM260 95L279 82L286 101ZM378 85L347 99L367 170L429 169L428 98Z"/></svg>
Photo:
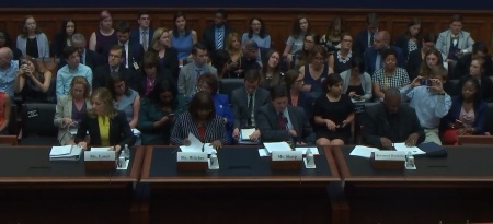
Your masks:
<svg viewBox="0 0 493 224"><path fill-rule="evenodd" d="M51 72L36 59L24 56L21 58L21 68L14 85L14 92L21 93L23 102L47 102L48 90L51 85Z"/></svg>

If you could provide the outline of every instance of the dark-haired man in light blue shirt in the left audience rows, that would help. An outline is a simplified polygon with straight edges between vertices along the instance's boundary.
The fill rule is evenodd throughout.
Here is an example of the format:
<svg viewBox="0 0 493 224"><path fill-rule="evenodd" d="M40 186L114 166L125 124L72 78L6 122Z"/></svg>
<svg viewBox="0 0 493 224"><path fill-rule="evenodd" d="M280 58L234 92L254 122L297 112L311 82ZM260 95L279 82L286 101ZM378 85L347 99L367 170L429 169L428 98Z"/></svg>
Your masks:
<svg viewBox="0 0 493 224"><path fill-rule="evenodd" d="M64 58L67 61L67 66L61 67L57 72L57 98L67 95L73 76L84 76L89 84L92 83L92 70L80 63L80 56L77 48L72 46L66 47L64 49Z"/></svg>

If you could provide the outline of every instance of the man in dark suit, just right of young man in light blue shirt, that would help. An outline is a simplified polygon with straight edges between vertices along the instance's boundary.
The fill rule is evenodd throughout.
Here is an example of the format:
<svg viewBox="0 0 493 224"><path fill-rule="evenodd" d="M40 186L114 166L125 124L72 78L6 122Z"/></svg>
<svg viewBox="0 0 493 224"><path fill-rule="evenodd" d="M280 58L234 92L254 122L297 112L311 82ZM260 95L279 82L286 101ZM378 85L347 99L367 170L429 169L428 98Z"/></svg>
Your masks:
<svg viewBox="0 0 493 224"><path fill-rule="evenodd" d="M118 75L131 83L131 72L122 64L124 49L119 45L113 45L107 57L107 64L95 69L92 79L92 89L107 87L110 75ZM111 86L110 86L111 87Z"/></svg>

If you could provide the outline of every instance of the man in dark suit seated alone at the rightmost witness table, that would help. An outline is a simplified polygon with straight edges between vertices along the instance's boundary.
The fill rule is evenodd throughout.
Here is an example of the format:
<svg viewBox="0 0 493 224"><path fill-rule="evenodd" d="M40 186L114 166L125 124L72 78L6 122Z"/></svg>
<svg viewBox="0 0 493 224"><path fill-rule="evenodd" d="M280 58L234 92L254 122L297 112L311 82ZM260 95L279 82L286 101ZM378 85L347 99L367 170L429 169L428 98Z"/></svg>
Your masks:
<svg viewBox="0 0 493 224"><path fill-rule="evenodd" d="M392 149L392 143L416 145L424 141L424 130L416 113L401 104L401 93L387 89L382 104L366 109L363 122L363 141L379 149Z"/></svg>

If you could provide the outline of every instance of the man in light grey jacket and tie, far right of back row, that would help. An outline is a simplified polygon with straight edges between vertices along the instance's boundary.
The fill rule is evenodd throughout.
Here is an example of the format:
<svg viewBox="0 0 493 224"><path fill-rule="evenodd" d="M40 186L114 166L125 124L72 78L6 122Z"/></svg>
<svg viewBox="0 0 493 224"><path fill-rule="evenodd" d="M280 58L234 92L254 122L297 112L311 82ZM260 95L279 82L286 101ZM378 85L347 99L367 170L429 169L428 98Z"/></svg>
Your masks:
<svg viewBox="0 0 493 224"><path fill-rule="evenodd" d="M470 33L462 31L462 16L455 14L450 20L450 28L438 35L435 47L447 61L457 61L472 51L473 44Z"/></svg>

